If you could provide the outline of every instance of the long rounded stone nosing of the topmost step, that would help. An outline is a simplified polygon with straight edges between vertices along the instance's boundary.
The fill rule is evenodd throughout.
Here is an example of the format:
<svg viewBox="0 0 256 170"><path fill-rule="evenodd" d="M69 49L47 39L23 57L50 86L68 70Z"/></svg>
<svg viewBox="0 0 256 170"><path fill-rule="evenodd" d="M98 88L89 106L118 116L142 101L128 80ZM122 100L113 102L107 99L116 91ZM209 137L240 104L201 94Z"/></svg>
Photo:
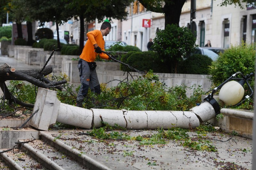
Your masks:
<svg viewBox="0 0 256 170"><path fill-rule="evenodd" d="M77 149L72 149L72 147L61 142L61 140L56 139L54 141L54 137L44 133L43 131L40 131L39 135L42 137L42 140L46 140L53 147L64 151L66 154L72 156L77 161L81 162L84 166L87 166L90 169L110 170L110 168L101 164L100 162L88 157L87 155L81 154Z"/></svg>

